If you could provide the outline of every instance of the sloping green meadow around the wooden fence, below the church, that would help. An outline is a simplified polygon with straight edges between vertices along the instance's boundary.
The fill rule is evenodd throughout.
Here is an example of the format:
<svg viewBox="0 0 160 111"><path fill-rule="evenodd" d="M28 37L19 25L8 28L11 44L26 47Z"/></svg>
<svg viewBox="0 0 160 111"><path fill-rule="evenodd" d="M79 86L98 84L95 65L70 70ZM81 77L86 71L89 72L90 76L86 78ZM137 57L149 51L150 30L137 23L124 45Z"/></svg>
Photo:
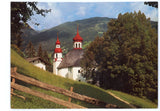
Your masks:
<svg viewBox="0 0 160 111"><path fill-rule="evenodd" d="M30 76L32 78L35 78L39 81L57 86L57 87L61 87L64 89L69 90L71 86L74 87L73 91L77 92L79 94L83 94L83 95L87 95L90 97L94 97L97 99L100 99L102 101L105 101L107 103L111 103L111 104L116 104L120 107L125 107L125 108L129 108L130 106L125 104L124 102L121 102L120 100L114 98L113 96L111 96L110 94L107 93L106 90L101 89L99 87L87 84L87 83L82 83L82 82L77 82L77 81L73 81L70 79L66 79L66 78L62 78L59 76L56 76L52 73L49 73L47 71L43 71L35 66L33 66L32 64L28 63L27 61L25 61L22 57L20 57L14 50L11 49L11 66L16 66L18 67L17 72L24 74L26 76ZM45 91L43 89L34 87L30 84L26 84L23 83L21 81L17 81L19 84L22 84L24 86L30 87L31 89L34 90L38 90L41 92L44 92L46 94L52 95L54 97L57 98L61 98L63 100L67 100L68 101L68 97L61 95L61 94L57 94L51 91ZM19 94L19 95L23 95L26 97L26 100L23 100L21 98L18 98L16 96L12 96L11 98L11 108L65 108L61 105L52 103L50 101L46 101L43 100L41 98L32 96L30 94L26 94L23 92L20 92L18 90L14 90L15 93ZM137 100L132 98L133 100ZM128 98L126 100L129 100ZM96 106L88 104L86 102L82 102L79 100L75 100L72 99L73 103L79 104L81 106L84 107L88 107L88 108L96 108ZM143 102L143 101L142 101ZM138 107L155 107L156 105L153 105L153 103L151 103L150 101L146 101L148 104L147 106L145 105L141 105L141 101L139 102L135 102L138 103L138 105L136 105L135 103L133 103L133 105L135 104Z"/></svg>

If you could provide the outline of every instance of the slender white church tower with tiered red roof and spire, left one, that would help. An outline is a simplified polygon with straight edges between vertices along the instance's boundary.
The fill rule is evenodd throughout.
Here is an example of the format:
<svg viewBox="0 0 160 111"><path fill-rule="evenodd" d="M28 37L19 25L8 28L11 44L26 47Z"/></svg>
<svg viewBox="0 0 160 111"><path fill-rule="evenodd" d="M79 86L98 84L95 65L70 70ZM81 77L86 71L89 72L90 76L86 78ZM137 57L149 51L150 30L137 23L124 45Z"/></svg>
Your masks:
<svg viewBox="0 0 160 111"><path fill-rule="evenodd" d="M54 56L53 56L53 73L58 74L58 69L57 67L59 64L62 62L62 49L60 46L60 41L58 38L58 33L57 33L57 41L56 41L56 48L54 49Z"/></svg>

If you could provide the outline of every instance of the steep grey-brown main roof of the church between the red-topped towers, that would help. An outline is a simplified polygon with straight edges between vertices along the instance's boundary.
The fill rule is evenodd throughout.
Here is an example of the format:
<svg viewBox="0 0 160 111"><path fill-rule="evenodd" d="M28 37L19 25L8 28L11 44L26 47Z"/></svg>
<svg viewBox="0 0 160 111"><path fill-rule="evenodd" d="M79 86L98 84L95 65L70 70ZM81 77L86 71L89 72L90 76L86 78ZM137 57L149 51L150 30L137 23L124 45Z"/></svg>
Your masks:
<svg viewBox="0 0 160 111"><path fill-rule="evenodd" d="M80 67L80 61L83 58L83 50L72 49L69 51L63 61L58 66L58 69L67 68L67 67Z"/></svg>

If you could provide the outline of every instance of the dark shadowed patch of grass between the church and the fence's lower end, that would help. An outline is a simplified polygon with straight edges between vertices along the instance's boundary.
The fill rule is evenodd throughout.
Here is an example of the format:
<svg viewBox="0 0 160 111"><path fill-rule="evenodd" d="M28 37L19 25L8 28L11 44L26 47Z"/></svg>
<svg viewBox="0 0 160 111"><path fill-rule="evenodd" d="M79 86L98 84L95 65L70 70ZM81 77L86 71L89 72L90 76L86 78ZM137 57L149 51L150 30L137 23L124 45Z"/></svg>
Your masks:
<svg viewBox="0 0 160 111"><path fill-rule="evenodd" d="M82 83L82 82L79 82L79 83L75 82L74 84L66 83L64 85L66 87L71 87L71 86L74 87L73 92L79 93L81 95L93 97L93 98L99 99L101 101L104 101L108 104L117 105L118 107L121 107L121 108L130 108L129 105L114 98L113 96L108 94L104 89L101 89L97 86ZM75 99L73 99L73 101L76 102ZM98 106L95 106L95 105L92 105L92 104L89 104L86 102L82 102L82 101L78 101L78 104L83 105L85 107L89 106L89 108L102 108L102 107L98 107Z"/></svg>

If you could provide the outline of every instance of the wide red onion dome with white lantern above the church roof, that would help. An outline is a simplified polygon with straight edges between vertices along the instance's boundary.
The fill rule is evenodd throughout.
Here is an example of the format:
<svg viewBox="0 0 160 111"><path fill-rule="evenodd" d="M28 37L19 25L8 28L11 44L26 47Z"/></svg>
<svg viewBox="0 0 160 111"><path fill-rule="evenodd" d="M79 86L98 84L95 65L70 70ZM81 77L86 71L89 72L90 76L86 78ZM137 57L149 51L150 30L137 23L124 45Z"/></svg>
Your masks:
<svg viewBox="0 0 160 111"><path fill-rule="evenodd" d="M83 38L79 35L78 25L77 25L77 34L73 38L73 48L74 49L82 49Z"/></svg>

